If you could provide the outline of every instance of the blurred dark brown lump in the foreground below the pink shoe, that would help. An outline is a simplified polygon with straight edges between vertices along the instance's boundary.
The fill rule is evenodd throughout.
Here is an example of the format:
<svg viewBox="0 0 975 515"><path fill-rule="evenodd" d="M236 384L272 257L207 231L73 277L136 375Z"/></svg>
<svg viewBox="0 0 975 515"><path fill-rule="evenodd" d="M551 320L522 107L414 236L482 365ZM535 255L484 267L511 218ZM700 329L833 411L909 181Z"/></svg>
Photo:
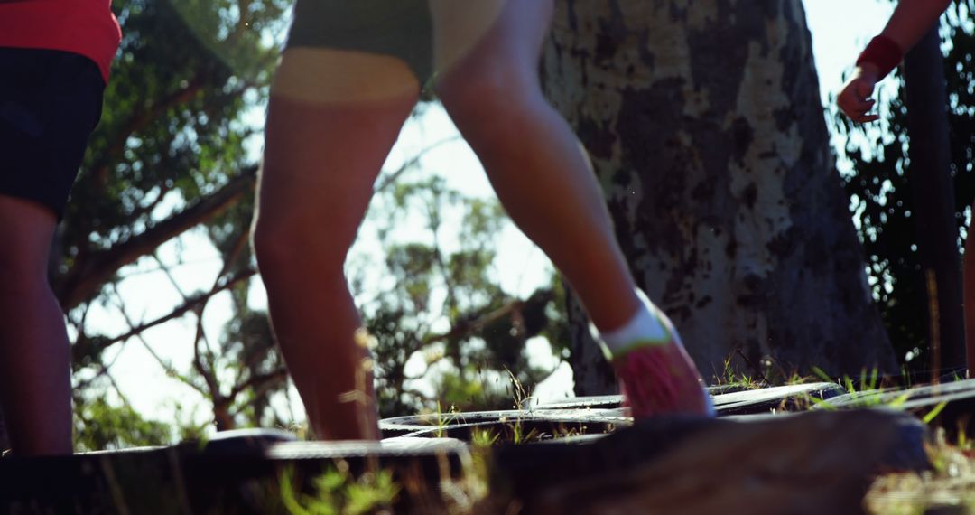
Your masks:
<svg viewBox="0 0 975 515"><path fill-rule="evenodd" d="M647 420L571 452L500 450L497 477L526 513L861 513L878 473L928 467L925 435L878 410Z"/></svg>

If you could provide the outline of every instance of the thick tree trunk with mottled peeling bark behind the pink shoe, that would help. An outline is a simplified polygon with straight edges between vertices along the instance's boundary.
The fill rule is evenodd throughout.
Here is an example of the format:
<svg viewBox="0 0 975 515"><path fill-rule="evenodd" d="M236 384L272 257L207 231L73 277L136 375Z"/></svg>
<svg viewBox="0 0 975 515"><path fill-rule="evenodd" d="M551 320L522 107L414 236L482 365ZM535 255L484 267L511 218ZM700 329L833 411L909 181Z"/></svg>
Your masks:
<svg viewBox="0 0 975 515"><path fill-rule="evenodd" d="M705 376L895 369L800 0L561 1L543 76Z"/></svg>

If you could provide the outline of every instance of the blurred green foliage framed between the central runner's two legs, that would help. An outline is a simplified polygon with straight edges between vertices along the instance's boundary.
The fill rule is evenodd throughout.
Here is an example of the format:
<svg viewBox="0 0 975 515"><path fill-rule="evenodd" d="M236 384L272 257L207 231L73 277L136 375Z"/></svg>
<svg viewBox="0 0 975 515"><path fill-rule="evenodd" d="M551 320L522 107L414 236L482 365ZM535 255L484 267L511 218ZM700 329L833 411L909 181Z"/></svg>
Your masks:
<svg viewBox="0 0 975 515"><path fill-rule="evenodd" d="M530 366L525 346L530 337L565 331L556 292L520 299L498 284L505 271L495 265L496 241L506 218L495 200L467 198L416 169L396 174L399 181L370 207L382 272L375 273L373 254L349 267L353 295L368 299L361 307L376 342L380 415L431 411L438 403L508 409L503 371L516 371L528 389L551 373ZM423 358L425 371L408 376L413 356ZM434 385L434 397L411 386L420 378Z"/></svg>

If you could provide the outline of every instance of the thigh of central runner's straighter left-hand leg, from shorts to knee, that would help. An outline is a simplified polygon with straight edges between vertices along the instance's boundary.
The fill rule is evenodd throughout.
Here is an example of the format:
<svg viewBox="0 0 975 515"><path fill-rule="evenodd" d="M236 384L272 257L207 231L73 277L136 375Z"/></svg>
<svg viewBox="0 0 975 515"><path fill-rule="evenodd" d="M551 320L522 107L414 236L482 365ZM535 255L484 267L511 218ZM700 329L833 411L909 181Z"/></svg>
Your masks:
<svg viewBox="0 0 975 515"><path fill-rule="evenodd" d="M418 94L402 59L288 49L268 108L258 233L344 254Z"/></svg>

